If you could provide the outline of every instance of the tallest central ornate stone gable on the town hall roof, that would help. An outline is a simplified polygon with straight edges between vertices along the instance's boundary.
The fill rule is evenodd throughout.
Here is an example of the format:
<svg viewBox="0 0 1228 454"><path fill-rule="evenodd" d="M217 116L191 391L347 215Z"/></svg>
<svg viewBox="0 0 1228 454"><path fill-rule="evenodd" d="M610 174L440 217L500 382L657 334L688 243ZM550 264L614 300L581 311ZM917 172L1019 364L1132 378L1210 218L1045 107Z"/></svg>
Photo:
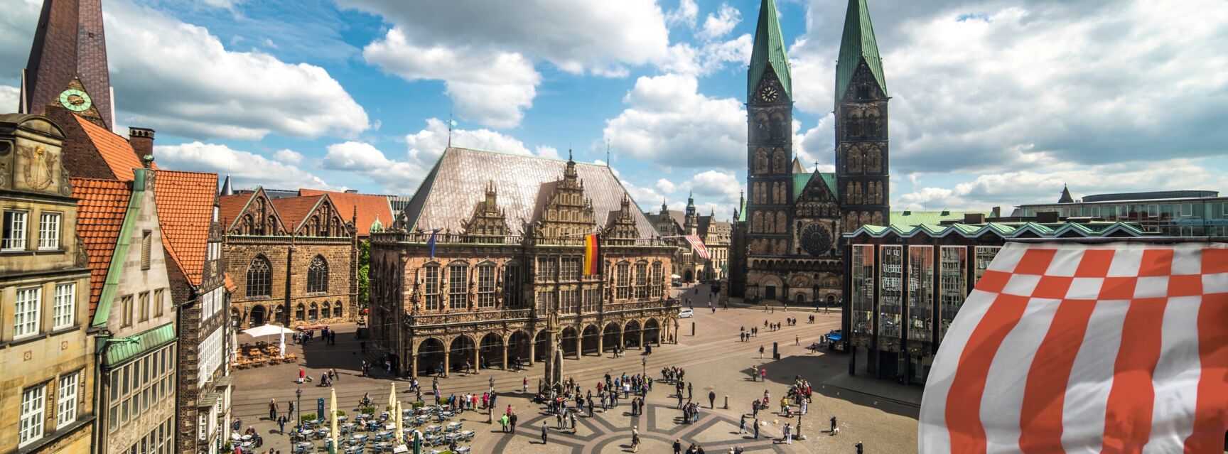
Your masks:
<svg viewBox="0 0 1228 454"><path fill-rule="evenodd" d="M585 183L576 174L576 162L567 160L562 179L555 182L550 201L543 207L534 234L538 238L571 238L592 233L596 226L593 202L585 196Z"/></svg>

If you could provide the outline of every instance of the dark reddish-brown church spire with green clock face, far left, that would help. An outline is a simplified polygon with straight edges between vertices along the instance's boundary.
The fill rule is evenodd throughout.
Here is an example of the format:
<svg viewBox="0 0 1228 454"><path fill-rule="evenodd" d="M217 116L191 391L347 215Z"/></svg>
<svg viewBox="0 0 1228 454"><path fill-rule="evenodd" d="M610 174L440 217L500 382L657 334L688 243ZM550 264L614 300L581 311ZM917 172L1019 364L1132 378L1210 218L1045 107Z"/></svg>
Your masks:
<svg viewBox="0 0 1228 454"><path fill-rule="evenodd" d="M43 114L47 106L60 104L112 129L111 92L102 0L44 0L22 72L18 110Z"/></svg>

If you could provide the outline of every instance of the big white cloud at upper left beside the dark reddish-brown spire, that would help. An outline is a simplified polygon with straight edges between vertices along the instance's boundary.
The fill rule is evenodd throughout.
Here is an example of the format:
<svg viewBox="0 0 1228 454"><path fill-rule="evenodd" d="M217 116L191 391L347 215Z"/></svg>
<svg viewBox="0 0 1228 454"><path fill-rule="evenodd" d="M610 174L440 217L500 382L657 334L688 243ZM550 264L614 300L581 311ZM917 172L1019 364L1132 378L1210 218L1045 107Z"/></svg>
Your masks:
<svg viewBox="0 0 1228 454"><path fill-rule="evenodd" d="M188 137L352 136L367 114L323 67L226 50L203 27L128 2L106 10L122 121Z"/></svg>

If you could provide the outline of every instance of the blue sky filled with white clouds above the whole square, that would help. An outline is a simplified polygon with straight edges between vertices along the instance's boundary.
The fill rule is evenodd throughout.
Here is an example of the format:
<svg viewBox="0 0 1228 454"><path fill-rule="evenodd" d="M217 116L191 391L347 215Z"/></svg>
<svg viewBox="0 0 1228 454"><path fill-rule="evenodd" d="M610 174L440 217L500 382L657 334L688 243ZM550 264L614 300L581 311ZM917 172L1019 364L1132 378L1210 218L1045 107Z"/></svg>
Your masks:
<svg viewBox="0 0 1228 454"><path fill-rule="evenodd" d="M728 218L759 0L104 0L117 130L236 188L411 195L448 142L602 162ZM1228 190L1228 2L868 0L893 210ZM0 110L39 0L0 0ZM777 0L795 152L831 171L847 0ZM608 150L608 155L607 155ZM508 175L515 178L515 175ZM476 196L476 195L475 195Z"/></svg>

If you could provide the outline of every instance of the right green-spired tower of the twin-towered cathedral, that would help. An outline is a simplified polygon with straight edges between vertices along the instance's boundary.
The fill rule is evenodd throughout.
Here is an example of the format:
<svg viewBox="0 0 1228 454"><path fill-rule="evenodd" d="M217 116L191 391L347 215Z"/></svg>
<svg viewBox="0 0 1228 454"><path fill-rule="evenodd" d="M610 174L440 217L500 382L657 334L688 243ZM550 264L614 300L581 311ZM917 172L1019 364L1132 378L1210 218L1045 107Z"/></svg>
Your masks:
<svg viewBox="0 0 1228 454"><path fill-rule="evenodd" d="M836 188L844 231L890 223L887 81L866 0L849 0L836 60Z"/></svg>

